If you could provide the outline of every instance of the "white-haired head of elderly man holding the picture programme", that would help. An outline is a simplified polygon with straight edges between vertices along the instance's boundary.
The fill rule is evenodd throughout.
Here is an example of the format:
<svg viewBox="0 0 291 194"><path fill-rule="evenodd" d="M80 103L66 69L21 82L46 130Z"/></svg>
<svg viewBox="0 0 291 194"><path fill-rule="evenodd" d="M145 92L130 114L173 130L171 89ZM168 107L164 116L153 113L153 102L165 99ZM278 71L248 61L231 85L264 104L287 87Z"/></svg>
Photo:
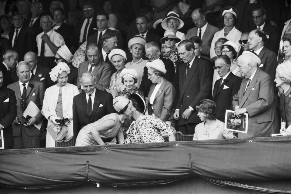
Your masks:
<svg viewBox="0 0 291 194"><path fill-rule="evenodd" d="M240 55L237 59L239 72L245 78L250 78L257 70L258 65L260 64L259 57L254 56L254 54L246 53Z"/></svg>

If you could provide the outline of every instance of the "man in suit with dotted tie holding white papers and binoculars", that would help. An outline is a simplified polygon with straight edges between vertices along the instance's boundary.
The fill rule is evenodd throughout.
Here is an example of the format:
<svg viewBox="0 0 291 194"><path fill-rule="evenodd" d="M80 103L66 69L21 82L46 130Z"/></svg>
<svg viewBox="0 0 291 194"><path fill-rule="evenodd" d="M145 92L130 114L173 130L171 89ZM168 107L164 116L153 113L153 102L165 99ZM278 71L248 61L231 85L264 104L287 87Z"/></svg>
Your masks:
<svg viewBox="0 0 291 194"><path fill-rule="evenodd" d="M17 117L12 123L14 148L39 148L43 130L36 128L34 124L42 122L41 111L32 118L24 119L22 115L31 101L35 103L38 109L42 109L45 87L41 82L30 80L28 62L19 62L16 71L19 81L7 86L7 88L14 90L17 101Z"/></svg>

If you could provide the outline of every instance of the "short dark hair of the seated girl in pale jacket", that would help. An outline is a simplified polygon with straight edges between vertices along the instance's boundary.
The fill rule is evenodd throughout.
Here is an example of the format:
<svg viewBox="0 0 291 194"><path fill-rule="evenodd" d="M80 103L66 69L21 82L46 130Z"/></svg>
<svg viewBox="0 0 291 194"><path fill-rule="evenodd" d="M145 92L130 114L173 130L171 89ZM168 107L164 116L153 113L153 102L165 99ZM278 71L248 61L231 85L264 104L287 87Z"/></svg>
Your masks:
<svg viewBox="0 0 291 194"><path fill-rule="evenodd" d="M207 115L208 119L215 119L216 104L209 99L203 99L200 104L196 106L196 110Z"/></svg>

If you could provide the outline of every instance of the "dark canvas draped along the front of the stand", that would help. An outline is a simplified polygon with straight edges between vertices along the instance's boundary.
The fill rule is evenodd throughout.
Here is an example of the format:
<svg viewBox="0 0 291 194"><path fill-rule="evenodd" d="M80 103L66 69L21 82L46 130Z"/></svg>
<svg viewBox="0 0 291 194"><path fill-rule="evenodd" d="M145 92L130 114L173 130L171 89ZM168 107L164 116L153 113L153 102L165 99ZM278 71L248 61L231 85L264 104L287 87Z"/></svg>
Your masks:
<svg viewBox="0 0 291 194"><path fill-rule="evenodd" d="M0 184L41 187L291 178L290 137L87 146L0 152ZM191 162L190 162L191 159Z"/></svg>

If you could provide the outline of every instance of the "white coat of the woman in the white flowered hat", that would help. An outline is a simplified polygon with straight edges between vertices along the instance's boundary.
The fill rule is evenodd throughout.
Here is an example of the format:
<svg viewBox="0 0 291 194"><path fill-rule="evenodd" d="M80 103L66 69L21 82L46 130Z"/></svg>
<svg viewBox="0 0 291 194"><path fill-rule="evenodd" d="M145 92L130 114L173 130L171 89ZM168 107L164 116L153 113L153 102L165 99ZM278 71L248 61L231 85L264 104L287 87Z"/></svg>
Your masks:
<svg viewBox="0 0 291 194"><path fill-rule="evenodd" d="M45 97L42 104L42 115L48 119L48 126L53 122L49 119L49 116L57 116L55 108L57 106L57 101L59 98L60 88L57 85L53 85L45 90ZM77 86L67 83L62 87L62 106L63 106L63 116L71 118L68 124L68 133L66 139L73 136L73 98L75 95L79 94ZM55 147L55 141L49 132L46 133L46 147Z"/></svg>

